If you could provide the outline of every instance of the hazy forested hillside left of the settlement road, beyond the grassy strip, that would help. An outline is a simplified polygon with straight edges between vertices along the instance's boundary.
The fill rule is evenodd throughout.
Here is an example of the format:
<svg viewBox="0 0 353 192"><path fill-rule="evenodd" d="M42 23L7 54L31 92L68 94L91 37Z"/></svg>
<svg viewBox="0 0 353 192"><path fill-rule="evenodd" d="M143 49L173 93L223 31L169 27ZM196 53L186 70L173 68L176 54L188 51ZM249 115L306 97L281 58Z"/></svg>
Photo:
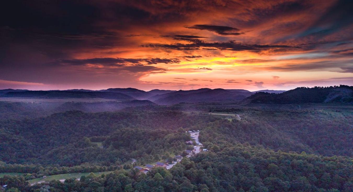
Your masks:
<svg viewBox="0 0 353 192"><path fill-rule="evenodd" d="M7 163L61 166L84 162L109 166L136 157L153 159L154 155L185 150L190 135L182 127L201 128L213 119L175 111L70 111L44 118L4 120L0 125L0 159ZM103 142L103 148L93 143L97 141Z"/></svg>

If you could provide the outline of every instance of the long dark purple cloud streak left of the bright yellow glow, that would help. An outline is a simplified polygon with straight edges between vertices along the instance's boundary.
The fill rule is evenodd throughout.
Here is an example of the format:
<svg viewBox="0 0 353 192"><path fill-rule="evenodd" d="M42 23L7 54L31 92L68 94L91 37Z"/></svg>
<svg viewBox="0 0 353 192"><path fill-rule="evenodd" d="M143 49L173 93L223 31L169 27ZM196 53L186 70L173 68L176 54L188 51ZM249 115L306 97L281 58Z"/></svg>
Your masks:
<svg viewBox="0 0 353 192"><path fill-rule="evenodd" d="M163 58L152 58L152 59L126 59L126 58L92 58L92 59L60 59L55 64L67 64L67 65L86 65L86 64L100 64L100 65L125 65L125 64L140 64L145 62L146 64L158 64L158 63L179 63L179 59L163 59Z"/></svg>

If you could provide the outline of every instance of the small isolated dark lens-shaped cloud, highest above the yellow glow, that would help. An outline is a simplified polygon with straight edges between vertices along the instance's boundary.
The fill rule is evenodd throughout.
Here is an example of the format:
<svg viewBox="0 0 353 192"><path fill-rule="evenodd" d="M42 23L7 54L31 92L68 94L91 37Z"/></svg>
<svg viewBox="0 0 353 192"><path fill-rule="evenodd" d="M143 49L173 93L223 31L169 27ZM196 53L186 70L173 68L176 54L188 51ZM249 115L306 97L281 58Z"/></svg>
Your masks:
<svg viewBox="0 0 353 192"><path fill-rule="evenodd" d="M193 25L193 26L185 26L185 28L213 31L219 35L242 35L242 34L244 34L244 32L239 32L240 29L229 27L229 26Z"/></svg>

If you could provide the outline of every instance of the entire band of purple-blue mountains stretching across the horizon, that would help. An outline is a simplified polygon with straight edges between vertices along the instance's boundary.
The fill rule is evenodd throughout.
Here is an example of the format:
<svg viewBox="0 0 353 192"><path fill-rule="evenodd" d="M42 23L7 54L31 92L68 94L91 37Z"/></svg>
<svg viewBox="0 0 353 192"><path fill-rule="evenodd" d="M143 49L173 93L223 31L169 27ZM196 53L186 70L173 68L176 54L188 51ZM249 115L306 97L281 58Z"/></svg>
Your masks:
<svg viewBox="0 0 353 192"><path fill-rule="evenodd" d="M244 89L159 90L143 91L134 88L110 88L103 90L49 90L30 91L22 89L0 90L0 97L25 98L104 98L111 100L149 100L144 104L172 105L177 103L241 102L241 103L327 103L353 102L353 86L296 88L289 91ZM138 106L142 103L137 102ZM150 103L149 103L150 102ZM142 104L142 105L144 105ZM133 103L129 103L133 106Z"/></svg>

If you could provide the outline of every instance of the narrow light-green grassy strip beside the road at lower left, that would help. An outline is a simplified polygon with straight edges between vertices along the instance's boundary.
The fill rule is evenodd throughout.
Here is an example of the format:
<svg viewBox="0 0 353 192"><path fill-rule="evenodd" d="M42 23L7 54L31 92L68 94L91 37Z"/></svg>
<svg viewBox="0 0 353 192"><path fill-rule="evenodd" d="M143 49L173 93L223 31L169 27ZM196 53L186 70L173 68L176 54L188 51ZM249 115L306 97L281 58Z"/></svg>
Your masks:
<svg viewBox="0 0 353 192"><path fill-rule="evenodd" d="M106 172L95 172L94 174L97 176L100 176L102 174L108 174L111 173L111 171L106 171ZM41 183L44 181L51 181L51 180L60 180L60 181L64 181L65 179L70 179L70 178L81 178L82 175L87 176L90 173L67 173L67 174L58 174L58 175L49 175L47 176L47 178L43 179L43 178L37 178L37 179L32 179L32 180L28 180L29 184L33 185L36 183Z"/></svg>

